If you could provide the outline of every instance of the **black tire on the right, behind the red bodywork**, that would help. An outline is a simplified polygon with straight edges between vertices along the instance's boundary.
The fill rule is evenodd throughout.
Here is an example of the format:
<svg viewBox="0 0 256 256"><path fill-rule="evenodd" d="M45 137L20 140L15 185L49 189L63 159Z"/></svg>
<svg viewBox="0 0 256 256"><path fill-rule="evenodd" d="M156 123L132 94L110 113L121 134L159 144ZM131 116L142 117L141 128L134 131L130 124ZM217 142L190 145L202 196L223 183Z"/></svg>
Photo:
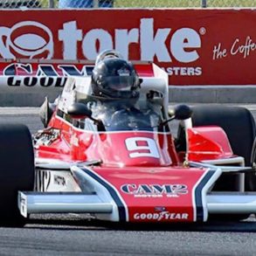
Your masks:
<svg viewBox="0 0 256 256"><path fill-rule="evenodd" d="M193 126L216 125L223 128L232 146L233 153L237 156L243 156L245 158L246 166L251 165L253 141L255 138L255 121L248 109L245 107L207 105L204 107L192 107L192 110ZM236 176L221 177L217 189L234 190L236 187L235 179ZM256 191L256 176L254 173L246 173L245 190ZM224 220L225 217L226 215L212 216L214 220ZM229 220L245 218L248 218L248 215L234 214L228 216Z"/></svg>

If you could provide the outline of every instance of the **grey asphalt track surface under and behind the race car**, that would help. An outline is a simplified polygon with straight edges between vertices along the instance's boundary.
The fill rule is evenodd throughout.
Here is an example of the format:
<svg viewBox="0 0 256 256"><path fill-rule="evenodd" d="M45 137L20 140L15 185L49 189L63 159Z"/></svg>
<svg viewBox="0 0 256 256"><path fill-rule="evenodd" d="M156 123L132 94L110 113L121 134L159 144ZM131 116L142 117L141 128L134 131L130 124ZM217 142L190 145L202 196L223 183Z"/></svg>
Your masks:
<svg viewBox="0 0 256 256"><path fill-rule="evenodd" d="M256 119L256 106L246 105ZM38 108L0 108L0 122L42 128ZM1 202L4 207L4 202ZM228 220L228 218L227 218ZM196 225L107 225L86 215L34 215L0 228L0 255L255 255L256 219Z"/></svg>

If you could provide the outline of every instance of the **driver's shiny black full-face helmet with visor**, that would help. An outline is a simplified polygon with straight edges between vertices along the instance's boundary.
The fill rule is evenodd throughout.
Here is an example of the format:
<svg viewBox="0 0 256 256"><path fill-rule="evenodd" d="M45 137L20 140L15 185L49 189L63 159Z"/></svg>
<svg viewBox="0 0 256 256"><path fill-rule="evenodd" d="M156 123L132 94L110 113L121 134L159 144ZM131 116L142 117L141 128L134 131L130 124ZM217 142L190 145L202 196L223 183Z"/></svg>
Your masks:
<svg viewBox="0 0 256 256"><path fill-rule="evenodd" d="M93 68L93 95L108 99L138 99L140 80L132 63L121 58L102 59Z"/></svg>

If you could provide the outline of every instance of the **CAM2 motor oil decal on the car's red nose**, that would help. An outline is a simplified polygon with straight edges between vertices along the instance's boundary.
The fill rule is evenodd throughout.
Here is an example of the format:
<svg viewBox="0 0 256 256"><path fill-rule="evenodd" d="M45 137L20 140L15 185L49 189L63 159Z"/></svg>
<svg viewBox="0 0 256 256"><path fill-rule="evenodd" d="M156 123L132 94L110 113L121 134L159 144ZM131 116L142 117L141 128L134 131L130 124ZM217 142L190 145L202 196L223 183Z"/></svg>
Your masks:
<svg viewBox="0 0 256 256"><path fill-rule="evenodd" d="M188 193L184 184L123 184L121 191L134 197L179 197Z"/></svg>

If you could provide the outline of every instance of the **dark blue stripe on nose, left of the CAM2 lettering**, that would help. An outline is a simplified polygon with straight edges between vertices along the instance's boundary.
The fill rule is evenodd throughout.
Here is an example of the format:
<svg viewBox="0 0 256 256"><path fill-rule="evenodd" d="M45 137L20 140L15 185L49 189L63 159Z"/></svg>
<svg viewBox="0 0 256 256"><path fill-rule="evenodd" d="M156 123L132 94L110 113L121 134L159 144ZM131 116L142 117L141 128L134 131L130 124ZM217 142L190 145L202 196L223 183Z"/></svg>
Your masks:
<svg viewBox="0 0 256 256"><path fill-rule="evenodd" d="M116 190L114 190L114 188L108 184L103 178L101 178L100 176L96 175L92 170L88 170L88 169L81 169L84 172L86 172L86 174L88 176L91 176L94 180L96 180L98 183L100 183L102 186L104 186L107 191L109 192L109 194L111 195L111 197L114 200L114 203L117 205L118 207L118 213L119 213L119 220L121 222L126 222L127 221L127 214L126 214L126 209L125 209L125 205L122 203L121 198L119 197L118 193L116 192Z"/></svg>

